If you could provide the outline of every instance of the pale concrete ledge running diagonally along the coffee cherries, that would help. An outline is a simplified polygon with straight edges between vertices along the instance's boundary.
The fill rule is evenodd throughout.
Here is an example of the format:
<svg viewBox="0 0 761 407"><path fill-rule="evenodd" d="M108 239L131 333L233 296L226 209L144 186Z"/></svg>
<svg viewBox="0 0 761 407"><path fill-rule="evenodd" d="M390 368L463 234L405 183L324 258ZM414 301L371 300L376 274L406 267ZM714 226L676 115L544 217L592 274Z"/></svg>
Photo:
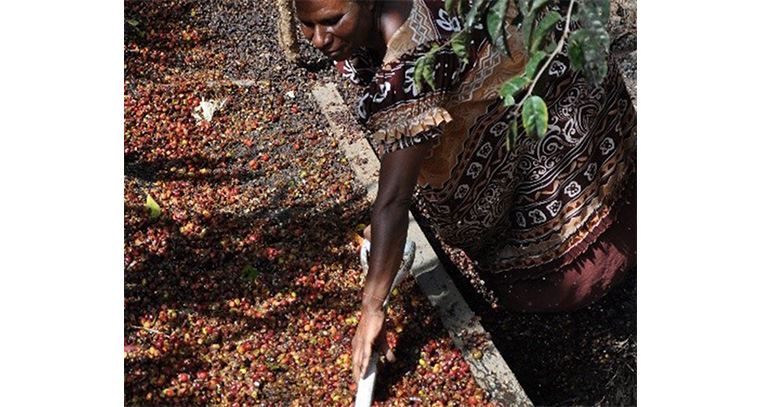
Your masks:
<svg viewBox="0 0 761 407"><path fill-rule="evenodd" d="M333 136L346 155L357 179L373 201L378 187L380 162L358 129L346 103L334 83L316 84L312 94L328 119ZM353 128L352 128L353 127ZM409 215L408 239L417 244L411 273L418 287L431 301L444 327L470 365L476 382L491 397L492 403L504 406L533 406L515 375L491 341L476 315L444 270L417 221Z"/></svg>

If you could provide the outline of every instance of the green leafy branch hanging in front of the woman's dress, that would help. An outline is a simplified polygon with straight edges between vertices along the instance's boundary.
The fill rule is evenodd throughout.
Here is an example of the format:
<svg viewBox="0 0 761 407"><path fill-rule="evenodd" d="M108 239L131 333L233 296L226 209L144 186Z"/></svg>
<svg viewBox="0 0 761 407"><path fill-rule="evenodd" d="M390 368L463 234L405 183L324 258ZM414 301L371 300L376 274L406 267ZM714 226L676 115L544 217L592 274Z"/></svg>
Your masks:
<svg viewBox="0 0 761 407"><path fill-rule="evenodd" d="M512 19L508 18L510 3L517 8ZM523 48L528 62L522 75L509 79L500 88L505 106L515 106L508 117L506 144L508 149L515 146L519 111L526 132L535 139L541 139L547 133L549 118L546 103L541 96L534 95L534 90L539 77L566 41L571 70L581 71L591 86L599 86L605 79L610 49L610 37L605 30L610 15L610 0L570 0L565 17L557 11L547 11L551 3L552 0L446 0L447 13L464 21L462 30L444 44L432 47L416 61L415 86L420 89L425 81L435 88L435 56L442 48L451 46L461 61L467 61L472 46L470 40L476 29L485 29L491 45L510 58L508 28L510 25L518 27L523 34ZM564 29L555 43L552 41L552 28L562 20L565 21ZM572 30L572 21L578 21L580 28ZM516 103L516 96L524 90L525 94Z"/></svg>

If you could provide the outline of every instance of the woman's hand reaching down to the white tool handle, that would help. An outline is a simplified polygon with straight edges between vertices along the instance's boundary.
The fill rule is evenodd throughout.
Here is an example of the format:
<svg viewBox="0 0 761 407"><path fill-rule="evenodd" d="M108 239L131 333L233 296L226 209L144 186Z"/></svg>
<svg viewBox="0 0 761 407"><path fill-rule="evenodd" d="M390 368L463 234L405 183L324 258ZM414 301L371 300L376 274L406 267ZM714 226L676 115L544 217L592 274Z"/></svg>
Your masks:
<svg viewBox="0 0 761 407"><path fill-rule="evenodd" d="M386 339L386 313L383 310L362 307L362 317L351 347L352 373L356 382L367 372L373 349L377 349L389 362L396 360Z"/></svg>

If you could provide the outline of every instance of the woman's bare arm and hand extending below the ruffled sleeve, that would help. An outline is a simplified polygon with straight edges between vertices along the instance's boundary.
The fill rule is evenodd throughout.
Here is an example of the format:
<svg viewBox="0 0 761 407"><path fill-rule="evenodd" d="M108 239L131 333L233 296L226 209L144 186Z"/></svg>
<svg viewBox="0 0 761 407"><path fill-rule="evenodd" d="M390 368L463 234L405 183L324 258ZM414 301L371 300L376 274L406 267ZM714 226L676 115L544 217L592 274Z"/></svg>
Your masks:
<svg viewBox="0 0 761 407"><path fill-rule="evenodd" d="M381 159L378 197L372 213L372 249L362 295L362 318L352 341L352 371L359 380L367 369L373 345L393 361L385 331L383 299L402 261L407 238L407 213L431 140L385 154Z"/></svg>

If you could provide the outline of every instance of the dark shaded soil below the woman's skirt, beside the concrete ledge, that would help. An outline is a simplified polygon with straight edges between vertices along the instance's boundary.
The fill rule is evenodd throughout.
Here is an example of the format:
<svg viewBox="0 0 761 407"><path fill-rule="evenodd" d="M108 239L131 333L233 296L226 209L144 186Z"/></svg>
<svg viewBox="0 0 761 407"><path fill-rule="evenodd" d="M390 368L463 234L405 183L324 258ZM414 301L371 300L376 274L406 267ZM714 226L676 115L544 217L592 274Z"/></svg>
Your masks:
<svg viewBox="0 0 761 407"><path fill-rule="evenodd" d="M425 216L416 213L418 222ZM430 234L445 269L537 406L637 404L637 271L605 297L572 313L499 307L467 256ZM438 242L438 244L436 243Z"/></svg>

